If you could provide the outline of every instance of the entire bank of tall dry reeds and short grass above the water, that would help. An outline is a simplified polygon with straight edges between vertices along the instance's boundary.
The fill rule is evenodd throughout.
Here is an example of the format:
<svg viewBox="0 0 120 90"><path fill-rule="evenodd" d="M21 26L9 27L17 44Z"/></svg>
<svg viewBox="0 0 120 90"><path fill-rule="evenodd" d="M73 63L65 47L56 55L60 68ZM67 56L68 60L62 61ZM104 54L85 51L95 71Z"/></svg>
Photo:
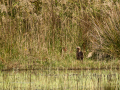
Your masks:
<svg viewBox="0 0 120 90"><path fill-rule="evenodd" d="M75 48L84 57L95 51L120 58L119 0L2 0L0 6L1 68L118 67L116 59L82 64Z"/></svg>

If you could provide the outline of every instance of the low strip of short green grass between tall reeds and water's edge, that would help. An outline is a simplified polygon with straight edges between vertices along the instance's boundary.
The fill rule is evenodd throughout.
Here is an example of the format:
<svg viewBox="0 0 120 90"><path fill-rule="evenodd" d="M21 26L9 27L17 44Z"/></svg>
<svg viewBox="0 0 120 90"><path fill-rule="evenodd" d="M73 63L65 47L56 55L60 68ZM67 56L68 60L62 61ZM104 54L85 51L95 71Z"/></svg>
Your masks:
<svg viewBox="0 0 120 90"><path fill-rule="evenodd" d="M75 59L61 59L61 60L26 60L11 61L3 65L4 70L102 70L102 69L119 69L120 60L102 60L95 61L85 59L79 61Z"/></svg>

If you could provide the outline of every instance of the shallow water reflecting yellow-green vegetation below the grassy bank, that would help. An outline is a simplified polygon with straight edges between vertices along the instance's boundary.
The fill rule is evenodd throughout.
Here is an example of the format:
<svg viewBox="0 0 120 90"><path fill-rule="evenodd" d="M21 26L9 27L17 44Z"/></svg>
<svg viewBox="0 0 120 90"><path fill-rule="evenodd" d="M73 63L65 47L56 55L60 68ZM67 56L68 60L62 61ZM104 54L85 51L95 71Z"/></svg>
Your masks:
<svg viewBox="0 0 120 90"><path fill-rule="evenodd" d="M0 72L0 90L120 90L120 71L4 71Z"/></svg>

